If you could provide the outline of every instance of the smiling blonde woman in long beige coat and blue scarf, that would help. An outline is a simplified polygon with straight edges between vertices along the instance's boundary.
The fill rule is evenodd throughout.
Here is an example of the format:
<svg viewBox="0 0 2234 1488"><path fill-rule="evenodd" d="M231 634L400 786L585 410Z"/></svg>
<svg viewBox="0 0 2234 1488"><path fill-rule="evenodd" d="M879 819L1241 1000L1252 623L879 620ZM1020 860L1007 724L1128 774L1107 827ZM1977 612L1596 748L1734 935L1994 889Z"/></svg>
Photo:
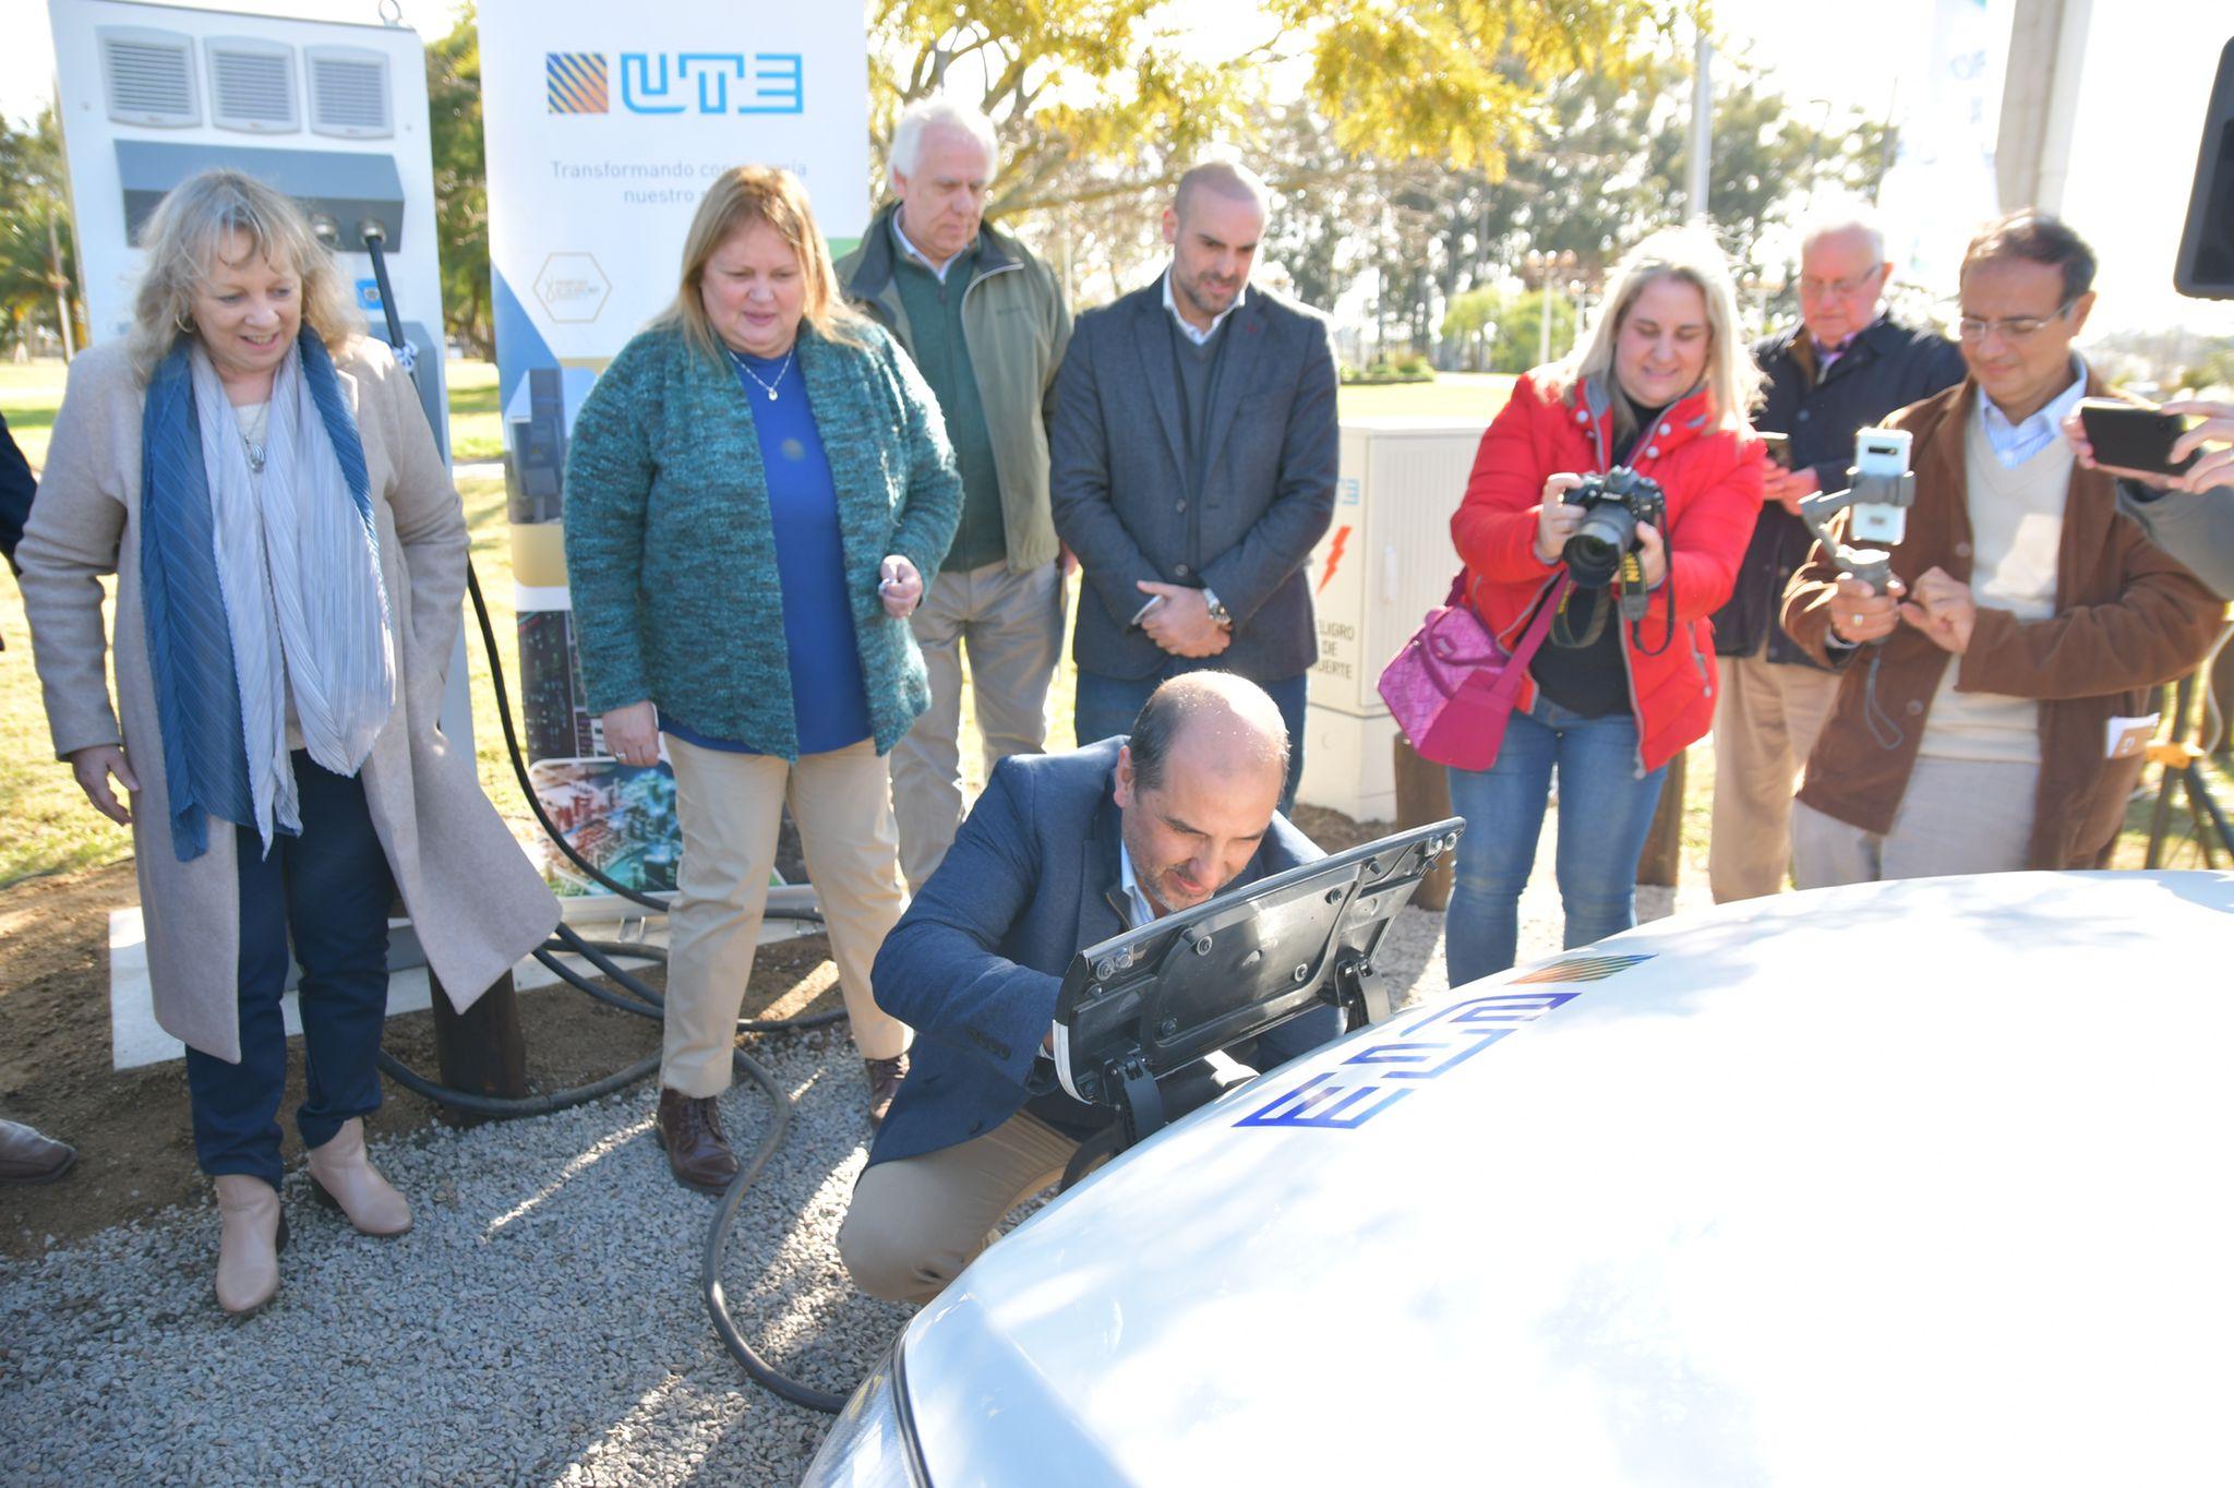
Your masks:
<svg viewBox="0 0 2234 1488"><path fill-rule="evenodd" d="M290 941L313 1191L398 1236L411 1209L362 1126L389 903L460 1008L558 907L436 724L467 536L411 382L362 337L302 212L255 179L181 183L143 241L139 322L71 366L16 559L56 755L132 824L156 1019L188 1046L217 1180L217 1300L246 1314L286 1242Z"/></svg>

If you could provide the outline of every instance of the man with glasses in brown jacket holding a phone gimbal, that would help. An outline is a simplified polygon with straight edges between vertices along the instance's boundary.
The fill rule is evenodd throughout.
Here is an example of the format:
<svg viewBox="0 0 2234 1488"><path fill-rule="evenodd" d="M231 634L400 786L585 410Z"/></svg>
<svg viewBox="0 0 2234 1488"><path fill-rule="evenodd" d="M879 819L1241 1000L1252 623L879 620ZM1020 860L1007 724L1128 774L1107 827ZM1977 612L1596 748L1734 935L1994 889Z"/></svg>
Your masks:
<svg viewBox="0 0 2234 1488"><path fill-rule="evenodd" d="M2035 212L1970 241L1970 375L1888 420L1915 436L1917 471L1892 592L1821 543L1785 590L1785 628L1843 668L1792 815L1803 889L2100 867L2140 778L2147 688L2218 632L2223 605L2058 436L2082 395L2109 393L2071 351L2093 268Z"/></svg>

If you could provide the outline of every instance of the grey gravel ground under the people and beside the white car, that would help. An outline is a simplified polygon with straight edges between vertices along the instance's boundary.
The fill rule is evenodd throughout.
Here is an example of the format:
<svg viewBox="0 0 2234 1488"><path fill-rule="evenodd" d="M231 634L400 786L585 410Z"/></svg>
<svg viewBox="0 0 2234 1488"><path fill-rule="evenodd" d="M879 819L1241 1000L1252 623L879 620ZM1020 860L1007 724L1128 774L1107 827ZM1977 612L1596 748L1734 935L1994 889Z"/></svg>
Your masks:
<svg viewBox="0 0 2234 1488"><path fill-rule="evenodd" d="M1546 833L1548 847L1548 833ZM1539 878L1548 876L1548 862ZM1702 889L1682 896L1689 907ZM1646 918L1667 889L1640 894ZM1381 963L1405 1001L1445 990L1443 921L1405 909ZM1557 950L1524 898L1521 958ZM746 1200L724 1285L744 1334L847 1390L907 1318L853 1291L838 1220L867 1157L842 1030L755 1055L798 1104ZM724 1104L751 1151L766 1099ZM170 1209L0 1267L0 1468L9 1484L791 1484L827 1417L760 1392L697 1291L710 1200L679 1189L650 1090L375 1148L418 1227L366 1240L286 1184L279 1298L210 1298L212 1206Z"/></svg>

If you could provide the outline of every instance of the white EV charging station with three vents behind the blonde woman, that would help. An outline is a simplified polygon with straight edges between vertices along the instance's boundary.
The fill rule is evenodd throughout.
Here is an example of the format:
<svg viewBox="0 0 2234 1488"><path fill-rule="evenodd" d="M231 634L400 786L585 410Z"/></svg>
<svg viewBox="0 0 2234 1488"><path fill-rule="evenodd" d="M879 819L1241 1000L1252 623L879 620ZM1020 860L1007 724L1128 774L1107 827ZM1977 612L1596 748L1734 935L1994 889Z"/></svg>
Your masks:
<svg viewBox="0 0 2234 1488"><path fill-rule="evenodd" d="M92 340L132 328L139 235L163 197L210 168L252 174L302 203L355 286L366 335L386 342L384 250L404 349L436 449L449 458L442 273L436 248L427 47L404 27L288 20L130 0L49 0L56 103ZM471 748L465 637L451 652L442 731ZM136 912L109 927L116 1066L179 1057L154 1026ZM391 921L389 1012L429 1005L418 938ZM295 1030L293 996L288 1028Z"/></svg>

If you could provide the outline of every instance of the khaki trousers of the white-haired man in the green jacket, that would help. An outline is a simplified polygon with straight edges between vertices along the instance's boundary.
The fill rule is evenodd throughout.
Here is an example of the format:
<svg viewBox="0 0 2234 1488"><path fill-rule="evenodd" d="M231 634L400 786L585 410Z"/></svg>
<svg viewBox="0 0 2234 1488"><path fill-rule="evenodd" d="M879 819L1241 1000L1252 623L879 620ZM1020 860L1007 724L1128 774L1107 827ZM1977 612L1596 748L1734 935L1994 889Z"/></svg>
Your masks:
<svg viewBox="0 0 2234 1488"><path fill-rule="evenodd" d="M891 751L891 802L900 869L920 891L963 820L963 646L985 769L1037 755L1048 746L1048 684L1063 648L1063 576L1054 563L1028 574L1008 563L938 574L907 623L932 677L932 706Z"/></svg>

